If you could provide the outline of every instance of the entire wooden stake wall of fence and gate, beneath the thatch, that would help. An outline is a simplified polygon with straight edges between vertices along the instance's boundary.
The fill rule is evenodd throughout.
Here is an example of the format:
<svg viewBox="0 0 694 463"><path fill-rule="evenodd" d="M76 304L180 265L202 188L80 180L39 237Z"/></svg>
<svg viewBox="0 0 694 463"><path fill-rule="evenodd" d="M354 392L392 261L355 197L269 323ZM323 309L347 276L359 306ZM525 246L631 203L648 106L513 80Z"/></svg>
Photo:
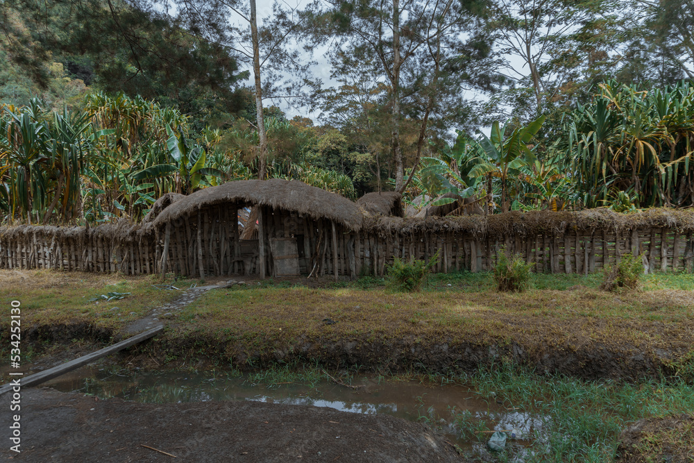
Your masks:
<svg viewBox="0 0 694 463"><path fill-rule="evenodd" d="M238 205L219 205L178 219L171 226L167 271L185 276L226 276L241 273L237 237ZM649 273L694 271L692 233L670 228L626 230L616 235L602 230L578 230L564 235L490 238L462 233L350 232L328 219L314 220L298 214L262 209L266 224L266 269L272 276L270 238L297 238L301 249L300 269L311 276L355 277L384 275L387 265L398 257L428 260L439 251L434 271L489 271L501 246L520 253L535 271L546 273L590 273L616 262L626 253L643 255ZM128 275L158 273L164 262L164 233L119 237L112 240L82 229L58 238L54 227L32 227L31 233L0 235L0 268L59 269ZM253 274L257 276L259 266Z"/></svg>

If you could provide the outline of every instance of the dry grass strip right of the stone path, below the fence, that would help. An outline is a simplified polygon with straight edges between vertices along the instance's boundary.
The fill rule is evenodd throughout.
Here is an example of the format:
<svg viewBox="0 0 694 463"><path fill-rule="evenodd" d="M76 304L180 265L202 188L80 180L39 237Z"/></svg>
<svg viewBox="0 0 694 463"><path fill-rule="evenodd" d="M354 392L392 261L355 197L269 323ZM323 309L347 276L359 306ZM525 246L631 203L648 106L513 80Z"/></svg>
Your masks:
<svg viewBox="0 0 694 463"><path fill-rule="evenodd" d="M667 363L694 352L692 282L689 274L648 276L641 291L621 294L600 291L595 275L534 276L521 294L496 292L489 274L471 273L436 276L418 293L392 292L373 278L323 288L269 282L208 292L171 332L260 353L296 351L306 342L387 346L407 339L518 345L534 357L548 349L607 349Z"/></svg>

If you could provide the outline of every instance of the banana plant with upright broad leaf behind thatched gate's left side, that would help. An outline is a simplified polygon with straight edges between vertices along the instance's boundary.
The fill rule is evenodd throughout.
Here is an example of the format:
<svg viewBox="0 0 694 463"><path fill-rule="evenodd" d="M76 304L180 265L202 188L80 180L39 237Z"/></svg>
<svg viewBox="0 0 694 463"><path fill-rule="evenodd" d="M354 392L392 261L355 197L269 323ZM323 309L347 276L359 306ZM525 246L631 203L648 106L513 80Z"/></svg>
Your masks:
<svg viewBox="0 0 694 463"><path fill-rule="evenodd" d="M205 167L207 154L202 146L191 146L183 133L174 132L168 125L167 133L169 134L167 149L171 162L137 171L132 176L133 180L164 178L174 174L176 192L191 194L200 186L203 176L210 176L213 179L224 177L224 173L219 169Z"/></svg>

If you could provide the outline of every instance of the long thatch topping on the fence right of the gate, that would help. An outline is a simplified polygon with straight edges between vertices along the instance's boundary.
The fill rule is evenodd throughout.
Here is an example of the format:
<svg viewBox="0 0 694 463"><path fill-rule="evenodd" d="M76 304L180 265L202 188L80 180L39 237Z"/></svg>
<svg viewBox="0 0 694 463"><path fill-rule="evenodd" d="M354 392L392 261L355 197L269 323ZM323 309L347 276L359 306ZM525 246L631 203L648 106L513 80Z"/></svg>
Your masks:
<svg viewBox="0 0 694 463"><path fill-rule="evenodd" d="M471 233L480 237L505 235L534 236L595 230L623 232L634 228L667 227L683 233L694 232L694 209L654 208L620 214L598 208L577 212L507 212L506 214L468 215L464 217L374 217L364 228L382 236L409 233Z"/></svg>

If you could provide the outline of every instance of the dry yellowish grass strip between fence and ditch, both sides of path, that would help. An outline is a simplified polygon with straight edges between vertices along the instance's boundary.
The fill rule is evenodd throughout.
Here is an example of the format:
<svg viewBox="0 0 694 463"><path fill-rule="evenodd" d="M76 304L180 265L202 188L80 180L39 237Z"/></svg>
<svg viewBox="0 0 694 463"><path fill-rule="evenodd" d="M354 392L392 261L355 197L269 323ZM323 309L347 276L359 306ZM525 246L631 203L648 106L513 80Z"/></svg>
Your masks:
<svg viewBox="0 0 694 463"><path fill-rule="evenodd" d="M601 277L534 275L531 289L521 294L497 292L489 273L435 275L416 293L393 292L379 278L318 285L305 279L248 282L213 289L187 305L169 323L167 338L170 344L196 339L201 354L210 344L222 346L214 361L226 362L239 350L249 362L282 360L284 354L275 355L282 352L291 360L307 343L319 346L309 355L320 357L320 346L344 342L373 349L393 343L403 349L519 346L526 360L548 350L580 360L591 349L607 349L675 367L694 356L693 275L645 276L641 290L619 294L598 289ZM156 289L156 283L153 276L1 271L0 296L22 302L25 328L89 323L119 330L180 295ZM130 294L118 301L90 301L108 292ZM359 360L366 357L383 360L375 351Z"/></svg>

